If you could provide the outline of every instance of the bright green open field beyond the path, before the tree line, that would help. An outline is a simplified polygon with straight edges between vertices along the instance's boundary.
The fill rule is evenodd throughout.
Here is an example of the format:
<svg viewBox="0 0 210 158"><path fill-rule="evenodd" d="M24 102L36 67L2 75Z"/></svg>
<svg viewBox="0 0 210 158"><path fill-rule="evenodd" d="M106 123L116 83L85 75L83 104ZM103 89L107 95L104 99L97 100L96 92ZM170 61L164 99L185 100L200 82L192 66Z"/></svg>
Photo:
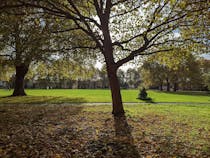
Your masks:
<svg viewBox="0 0 210 158"><path fill-rule="evenodd" d="M0 90L0 103L79 103L79 102L111 102L110 90L102 89L27 89L27 97L5 97L12 90ZM123 102L142 102L137 98L138 90L122 90ZM205 92L160 92L148 91L153 102L190 102L210 103L210 94Z"/></svg>

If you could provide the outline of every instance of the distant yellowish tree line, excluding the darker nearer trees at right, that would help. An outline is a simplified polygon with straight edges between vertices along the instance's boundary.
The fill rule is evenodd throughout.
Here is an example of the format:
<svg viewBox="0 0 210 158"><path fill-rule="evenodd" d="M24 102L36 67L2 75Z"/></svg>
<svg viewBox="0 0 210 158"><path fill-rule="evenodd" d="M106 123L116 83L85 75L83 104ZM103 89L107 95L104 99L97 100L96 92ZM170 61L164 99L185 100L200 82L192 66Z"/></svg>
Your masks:
<svg viewBox="0 0 210 158"><path fill-rule="evenodd" d="M120 87L123 89L138 88L141 82L140 73L134 68L129 68L127 71L120 69L117 74ZM2 88L14 88L14 68L11 67L0 75L0 80L4 81ZM58 59L51 63L40 62L31 66L25 77L24 88L108 89L110 87L105 66L99 69L94 65L87 67Z"/></svg>

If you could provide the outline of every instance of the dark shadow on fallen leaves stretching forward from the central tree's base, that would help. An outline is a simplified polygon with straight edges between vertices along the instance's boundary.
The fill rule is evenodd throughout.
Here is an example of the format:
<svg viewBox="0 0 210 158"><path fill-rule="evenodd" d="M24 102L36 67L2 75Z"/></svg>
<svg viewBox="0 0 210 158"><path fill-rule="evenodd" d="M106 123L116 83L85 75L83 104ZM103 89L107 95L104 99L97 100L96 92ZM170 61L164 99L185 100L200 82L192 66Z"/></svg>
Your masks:
<svg viewBox="0 0 210 158"><path fill-rule="evenodd" d="M111 130L113 123L114 130ZM131 134L132 127L128 124L126 116L113 117L113 122L106 121L104 131L99 139L90 141L88 150L95 157L107 158L139 158L137 147Z"/></svg>

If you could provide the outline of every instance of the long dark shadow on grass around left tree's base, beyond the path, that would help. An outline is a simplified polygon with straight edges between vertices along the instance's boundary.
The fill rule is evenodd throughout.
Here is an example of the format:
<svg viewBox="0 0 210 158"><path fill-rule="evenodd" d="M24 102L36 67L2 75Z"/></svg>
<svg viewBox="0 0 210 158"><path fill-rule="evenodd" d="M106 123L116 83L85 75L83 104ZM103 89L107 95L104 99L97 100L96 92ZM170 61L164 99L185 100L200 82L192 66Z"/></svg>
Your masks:
<svg viewBox="0 0 210 158"><path fill-rule="evenodd" d="M45 103L85 103L82 97L54 97L54 96L18 96L18 97L0 97L0 103L3 104L45 104Z"/></svg>

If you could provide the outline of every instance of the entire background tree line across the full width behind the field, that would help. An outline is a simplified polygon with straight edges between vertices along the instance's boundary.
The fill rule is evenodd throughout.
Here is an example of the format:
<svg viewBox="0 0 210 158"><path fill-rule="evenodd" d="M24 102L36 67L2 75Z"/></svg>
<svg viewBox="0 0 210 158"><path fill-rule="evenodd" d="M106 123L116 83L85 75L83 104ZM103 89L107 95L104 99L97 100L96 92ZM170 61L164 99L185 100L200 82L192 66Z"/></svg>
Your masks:
<svg viewBox="0 0 210 158"><path fill-rule="evenodd" d="M179 58L178 54L182 54L179 61L175 59ZM3 88L11 89L15 87L14 68L5 66L6 71L0 74L0 80L4 81ZM202 91L210 90L209 73L210 60L179 50L168 56L150 56L137 68L119 69L117 76L121 89ZM25 77L25 88L108 89L109 81L105 65L99 69L94 65L82 66L68 59L57 59L32 65Z"/></svg>

